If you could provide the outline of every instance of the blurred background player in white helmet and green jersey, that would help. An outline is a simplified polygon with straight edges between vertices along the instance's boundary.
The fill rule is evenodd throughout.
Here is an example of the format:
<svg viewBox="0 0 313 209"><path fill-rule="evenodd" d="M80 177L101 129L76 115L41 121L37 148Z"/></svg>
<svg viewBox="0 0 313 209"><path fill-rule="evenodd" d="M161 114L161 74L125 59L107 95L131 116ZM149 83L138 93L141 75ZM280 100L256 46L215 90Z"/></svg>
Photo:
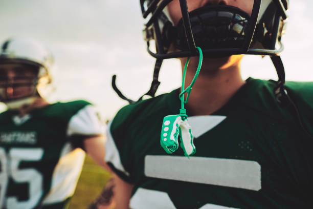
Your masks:
<svg viewBox="0 0 313 209"><path fill-rule="evenodd" d="M104 161L104 128L87 101L48 103L50 52L31 39L5 41L0 54L0 208L66 208L85 153Z"/></svg>

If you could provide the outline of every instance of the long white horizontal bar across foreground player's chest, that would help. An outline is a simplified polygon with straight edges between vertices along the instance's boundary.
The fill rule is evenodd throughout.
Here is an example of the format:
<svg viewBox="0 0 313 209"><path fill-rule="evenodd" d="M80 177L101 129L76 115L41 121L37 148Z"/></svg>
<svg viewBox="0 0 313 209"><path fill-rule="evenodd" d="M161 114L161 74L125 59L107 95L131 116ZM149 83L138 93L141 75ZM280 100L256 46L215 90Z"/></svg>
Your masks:
<svg viewBox="0 0 313 209"><path fill-rule="evenodd" d="M147 155L145 175L254 191L261 189L261 166L250 160Z"/></svg>

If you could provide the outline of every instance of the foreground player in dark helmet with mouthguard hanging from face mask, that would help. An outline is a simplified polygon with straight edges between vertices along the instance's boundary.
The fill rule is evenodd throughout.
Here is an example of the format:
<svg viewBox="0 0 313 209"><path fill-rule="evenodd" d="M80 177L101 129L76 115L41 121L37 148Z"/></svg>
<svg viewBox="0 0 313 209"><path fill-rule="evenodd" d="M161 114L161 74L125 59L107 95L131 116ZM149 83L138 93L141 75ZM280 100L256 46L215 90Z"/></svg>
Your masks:
<svg viewBox="0 0 313 209"><path fill-rule="evenodd" d="M163 118L180 113L180 89L129 100L107 131L117 208L312 208L313 83L285 82L279 53L288 1L140 4L147 49L157 58L147 95L158 88L163 59L180 58L184 66L191 57L188 85L199 62L196 47L203 51L185 104L196 152L186 157L183 149L160 145L161 129L161 140L169 140L172 122ZM243 80L242 54L270 55L279 80Z"/></svg>

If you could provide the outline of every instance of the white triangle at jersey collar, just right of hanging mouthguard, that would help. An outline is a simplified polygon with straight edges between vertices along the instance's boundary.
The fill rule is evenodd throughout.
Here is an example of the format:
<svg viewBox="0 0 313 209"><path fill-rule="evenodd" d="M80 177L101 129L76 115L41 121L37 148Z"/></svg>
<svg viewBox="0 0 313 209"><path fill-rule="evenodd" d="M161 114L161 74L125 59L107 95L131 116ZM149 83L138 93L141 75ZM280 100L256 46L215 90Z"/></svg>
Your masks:
<svg viewBox="0 0 313 209"><path fill-rule="evenodd" d="M216 127L225 119L226 116L219 115L191 116L188 117L188 123L191 126L193 136L197 138Z"/></svg>

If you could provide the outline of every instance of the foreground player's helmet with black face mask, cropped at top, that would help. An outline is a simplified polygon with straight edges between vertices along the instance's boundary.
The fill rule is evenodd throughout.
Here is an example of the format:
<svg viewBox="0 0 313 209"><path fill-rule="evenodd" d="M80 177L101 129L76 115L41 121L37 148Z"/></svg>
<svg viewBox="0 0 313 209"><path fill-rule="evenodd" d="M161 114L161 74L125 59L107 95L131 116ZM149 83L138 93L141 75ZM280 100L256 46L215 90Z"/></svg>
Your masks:
<svg viewBox="0 0 313 209"><path fill-rule="evenodd" d="M232 54L275 56L283 50L287 0L251 1L251 16L226 5L206 5L188 12L186 0L180 0L182 19L175 26L166 15L171 1L141 0L143 16L148 20L144 39L149 54L155 58L195 56L196 46L203 49L205 57L212 58ZM155 53L150 49L153 39Z"/></svg>

